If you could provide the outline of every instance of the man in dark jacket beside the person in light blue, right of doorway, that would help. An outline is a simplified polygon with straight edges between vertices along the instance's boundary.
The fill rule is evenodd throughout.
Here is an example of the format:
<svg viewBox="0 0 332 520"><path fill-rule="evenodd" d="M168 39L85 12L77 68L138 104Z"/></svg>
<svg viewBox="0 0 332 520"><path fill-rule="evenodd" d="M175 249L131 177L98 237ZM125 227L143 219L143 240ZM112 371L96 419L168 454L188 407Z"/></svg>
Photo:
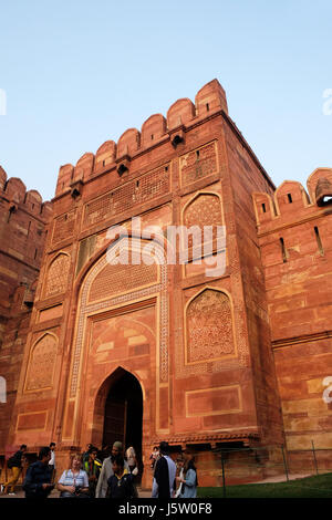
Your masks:
<svg viewBox="0 0 332 520"><path fill-rule="evenodd" d="M173 498L176 465L169 457L170 446L168 443L163 440L159 451L162 457L156 461L155 466L152 498Z"/></svg>

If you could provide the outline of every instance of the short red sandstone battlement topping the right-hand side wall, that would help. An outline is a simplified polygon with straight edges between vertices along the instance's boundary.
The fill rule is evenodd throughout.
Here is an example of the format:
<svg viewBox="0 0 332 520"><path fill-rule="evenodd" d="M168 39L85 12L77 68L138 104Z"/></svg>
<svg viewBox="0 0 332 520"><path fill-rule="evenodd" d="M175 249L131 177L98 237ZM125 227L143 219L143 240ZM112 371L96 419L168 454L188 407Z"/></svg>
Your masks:
<svg viewBox="0 0 332 520"><path fill-rule="evenodd" d="M308 193L295 180L284 180L271 197L264 193L252 194L259 231L268 231L301 221L317 211L332 208L332 168L317 168L307 180Z"/></svg>

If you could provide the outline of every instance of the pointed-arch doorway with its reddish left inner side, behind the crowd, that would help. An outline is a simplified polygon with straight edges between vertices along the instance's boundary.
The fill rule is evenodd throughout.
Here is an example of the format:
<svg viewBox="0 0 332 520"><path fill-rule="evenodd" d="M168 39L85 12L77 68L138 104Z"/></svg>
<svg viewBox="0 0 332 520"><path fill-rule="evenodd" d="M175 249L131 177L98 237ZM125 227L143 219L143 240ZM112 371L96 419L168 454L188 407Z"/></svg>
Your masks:
<svg viewBox="0 0 332 520"><path fill-rule="evenodd" d="M112 446L121 440L142 456L143 392L138 379L122 367L116 368L101 386L95 403L95 440ZM101 428L102 427L102 428Z"/></svg>

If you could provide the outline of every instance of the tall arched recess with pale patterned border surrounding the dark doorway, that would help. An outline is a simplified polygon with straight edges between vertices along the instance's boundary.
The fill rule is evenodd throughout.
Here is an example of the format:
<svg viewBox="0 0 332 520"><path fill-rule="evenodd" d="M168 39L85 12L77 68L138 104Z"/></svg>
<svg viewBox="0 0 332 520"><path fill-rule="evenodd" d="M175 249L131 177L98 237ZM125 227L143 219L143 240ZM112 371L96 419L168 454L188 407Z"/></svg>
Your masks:
<svg viewBox="0 0 332 520"><path fill-rule="evenodd" d="M116 247L133 252L146 243L132 237ZM105 249L79 280L62 427L66 446L102 445L108 376L120 366L134 373L148 395L144 445L169 431L168 266L164 247L156 243L155 250L152 264L117 266L107 261Z"/></svg>

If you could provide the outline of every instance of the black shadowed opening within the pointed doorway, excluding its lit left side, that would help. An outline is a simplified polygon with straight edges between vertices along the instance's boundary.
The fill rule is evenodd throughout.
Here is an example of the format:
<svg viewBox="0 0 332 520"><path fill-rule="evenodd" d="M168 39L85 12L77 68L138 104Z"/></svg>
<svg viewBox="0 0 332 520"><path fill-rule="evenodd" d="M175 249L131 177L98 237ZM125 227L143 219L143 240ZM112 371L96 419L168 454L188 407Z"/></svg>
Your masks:
<svg viewBox="0 0 332 520"><path fill-rule="evenodd" d="M136 377L124 370L114 374L105 404L103 446L112 448L115 440L124 449L133 446L142 459L143 394Z"/></svg>

